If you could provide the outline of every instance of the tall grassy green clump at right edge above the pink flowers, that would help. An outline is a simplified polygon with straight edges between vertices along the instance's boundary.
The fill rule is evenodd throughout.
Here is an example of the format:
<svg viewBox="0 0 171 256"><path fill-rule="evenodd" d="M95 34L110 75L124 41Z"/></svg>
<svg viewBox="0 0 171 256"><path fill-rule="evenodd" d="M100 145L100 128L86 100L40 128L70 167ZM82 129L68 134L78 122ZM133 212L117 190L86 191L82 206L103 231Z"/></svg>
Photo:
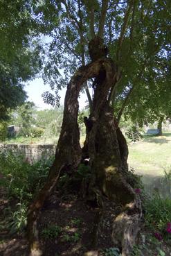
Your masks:
<svg viewBox="0 0 171 256"><path fill-rule="evenodd" d="M156 232L159 230L165 234L167 223L171 220L171 200L170 198L161 198L155 194L153 198L145 201L145 225Z"/></svg>

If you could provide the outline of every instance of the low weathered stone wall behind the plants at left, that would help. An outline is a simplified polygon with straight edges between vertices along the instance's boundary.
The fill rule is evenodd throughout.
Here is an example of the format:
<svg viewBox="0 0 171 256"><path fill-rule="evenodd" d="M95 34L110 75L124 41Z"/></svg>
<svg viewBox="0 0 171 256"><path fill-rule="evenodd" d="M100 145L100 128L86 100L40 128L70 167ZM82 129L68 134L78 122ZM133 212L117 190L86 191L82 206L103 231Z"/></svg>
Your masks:
<svg viewBox="0 0 171 256"><path fill-rule="evenodd" d="M0 144L0 151L2 148L19 153L26 157L28 162L39 160L41 157L51 157L55 155L56 145L54 144Z"/></svg>

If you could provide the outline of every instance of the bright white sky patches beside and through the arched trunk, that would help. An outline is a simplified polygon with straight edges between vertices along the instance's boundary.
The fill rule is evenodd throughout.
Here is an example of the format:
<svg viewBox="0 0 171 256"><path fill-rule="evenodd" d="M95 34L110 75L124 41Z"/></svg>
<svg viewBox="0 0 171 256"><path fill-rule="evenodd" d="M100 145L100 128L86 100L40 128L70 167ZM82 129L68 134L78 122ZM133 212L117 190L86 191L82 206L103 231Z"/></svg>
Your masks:
<svg viewBox="0 0 171 256"><path fill-rule="evenodd" d="M45 104L42 99L42 93L45 91L49 91L49 85L44 85L42 78L36 78L29 83L26 83L24 87L25 91L28 95L28 101L33 101L37 106L38 110L44 110L47 108L52 108L51 105ZM66 89L62 89L60 92L60 104L64 105L64 96L65 96ZM84 108L87 100L86 94L80 94L79 105L80 109Z"/></svg>

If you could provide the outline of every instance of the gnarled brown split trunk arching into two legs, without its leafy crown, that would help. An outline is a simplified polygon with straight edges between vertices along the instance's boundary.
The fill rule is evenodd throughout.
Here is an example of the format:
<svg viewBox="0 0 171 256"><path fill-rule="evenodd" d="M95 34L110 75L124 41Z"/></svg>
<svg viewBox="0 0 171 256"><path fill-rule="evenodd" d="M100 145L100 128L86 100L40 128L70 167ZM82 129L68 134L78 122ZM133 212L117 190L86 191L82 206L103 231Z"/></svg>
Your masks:
<svg viewBox="0 0 171 256"><path fill-rule="evenodd" d="M111 85L117 83L116 67L111 59L106 58L101 39L99 45L98 49L98 38L91 41L89 51L92 62L80 67L67 87L62 130L55 161L46 184L28 210L28 240L31 256L42 255L39 248L37 221L44 200L52 193L60 172L65 171L68 166L73 169L77 167L82 157L78 128L78 96L83 83L89 78L95 78L93 106L91 116L87 119L86 152L90 157L92 171L89 194L96 197L99 191L98 196L103 194L125 207L125 211L114 220L114 230L118 230L118 234L115 235L113 232L113 240L122 247L123 256L129 256L134 246L141 219L141 202L124 178L124 171L127 171L127 144L116 124L108 101Z"/></svg>

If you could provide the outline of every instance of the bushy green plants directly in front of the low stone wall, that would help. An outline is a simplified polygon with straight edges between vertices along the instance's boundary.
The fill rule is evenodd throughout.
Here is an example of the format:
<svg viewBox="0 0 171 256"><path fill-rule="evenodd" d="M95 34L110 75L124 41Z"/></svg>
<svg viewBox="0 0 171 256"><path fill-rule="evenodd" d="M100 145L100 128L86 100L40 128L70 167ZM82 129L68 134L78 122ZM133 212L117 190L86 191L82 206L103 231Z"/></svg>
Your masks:
<svg viewBox="0 0 171 256"><path fill-rule="evenodd" d="M24 159L24 155L15 155L3 148L0 153L1 173L6 177L8 195L19 200L31 200L44 185L52 159L42 159L33 164Z"/></svg>

